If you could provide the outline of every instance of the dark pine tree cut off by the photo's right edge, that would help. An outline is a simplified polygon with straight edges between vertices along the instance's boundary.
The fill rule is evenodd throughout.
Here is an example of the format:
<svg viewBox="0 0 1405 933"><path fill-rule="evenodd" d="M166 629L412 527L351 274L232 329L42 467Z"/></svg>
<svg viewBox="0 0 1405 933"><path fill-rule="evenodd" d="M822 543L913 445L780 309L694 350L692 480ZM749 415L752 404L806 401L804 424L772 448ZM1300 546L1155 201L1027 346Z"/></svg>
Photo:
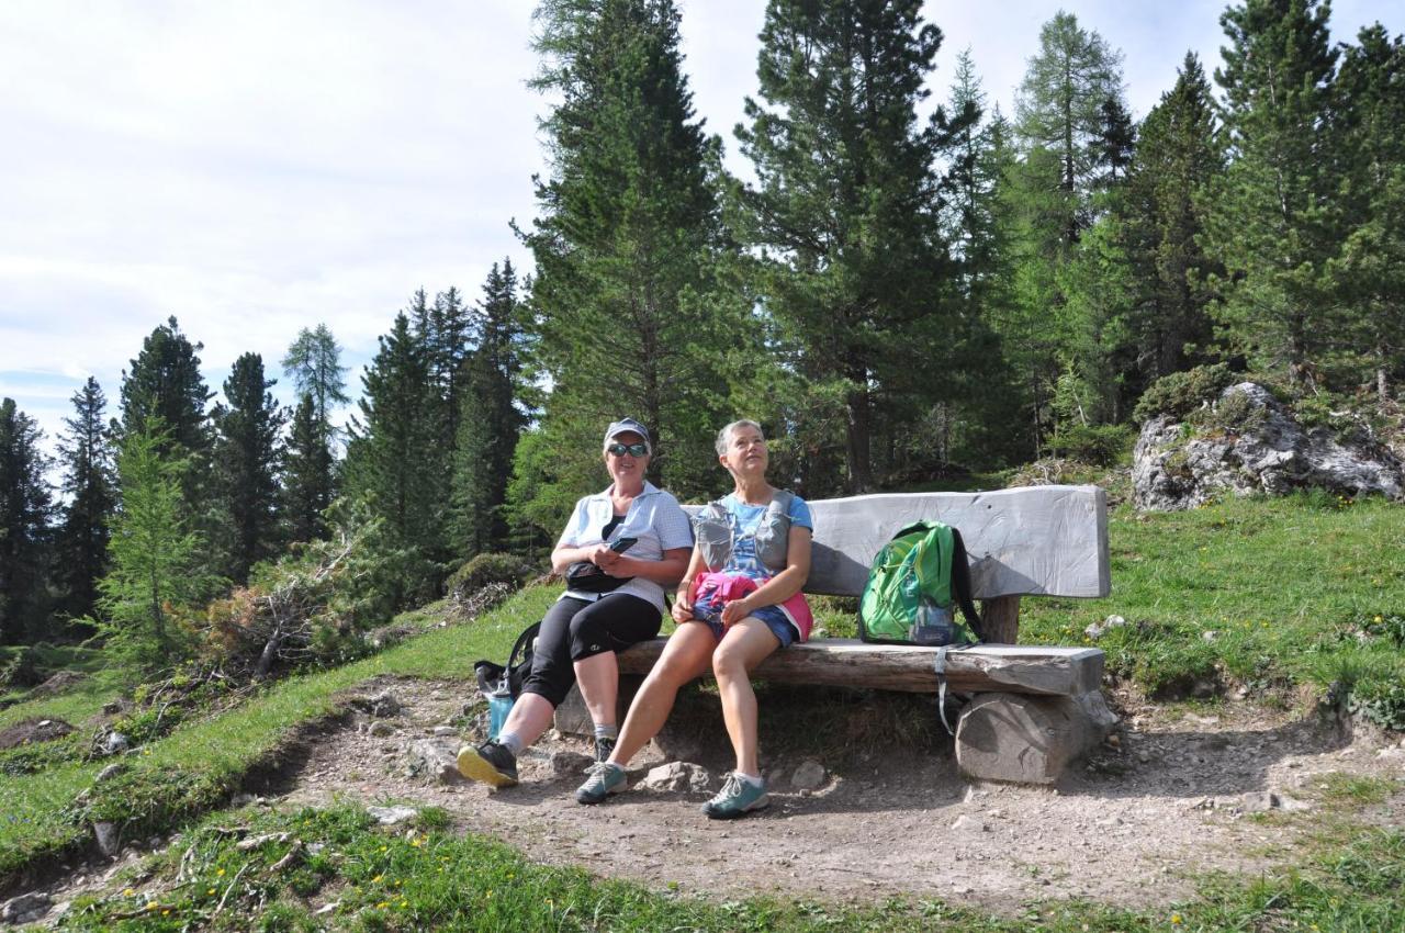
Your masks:
<svg viewBox="0 0 1405 933"><path fill-rule="evenodd" d="M1405 39L1375 24L1345 48L1335 117L1346 232L1329 288L1384 402L1405 378Z"/></svg>

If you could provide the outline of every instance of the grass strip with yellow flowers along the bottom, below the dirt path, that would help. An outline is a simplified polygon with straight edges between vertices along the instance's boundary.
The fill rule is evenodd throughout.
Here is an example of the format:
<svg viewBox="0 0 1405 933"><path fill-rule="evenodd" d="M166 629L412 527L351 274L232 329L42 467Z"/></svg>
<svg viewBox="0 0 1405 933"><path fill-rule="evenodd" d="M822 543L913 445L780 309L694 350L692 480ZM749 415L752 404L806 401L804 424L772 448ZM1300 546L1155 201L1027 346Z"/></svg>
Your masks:
<svg viewBox="0 0 1405 933"><path fill-rule="evenodd" d="M284 835L285 833L285 835ZM237 843L263 840L239 850ZM282 868L289 852L295 854ZM202 821L152 857L129 887L74 902L81 930L1395 930L1405 923L1405 835L1366 830L1280 877L1215 875L1190 902L1125 911L1083 901L988 916L932 898L868 905L809 899L717 901L534 864L486 836L458 833L427 808L406 830L361 808L246 809ZM318 918L318 906L336 908ZM1315 926L1314 926L1315 925Z"/></svg>

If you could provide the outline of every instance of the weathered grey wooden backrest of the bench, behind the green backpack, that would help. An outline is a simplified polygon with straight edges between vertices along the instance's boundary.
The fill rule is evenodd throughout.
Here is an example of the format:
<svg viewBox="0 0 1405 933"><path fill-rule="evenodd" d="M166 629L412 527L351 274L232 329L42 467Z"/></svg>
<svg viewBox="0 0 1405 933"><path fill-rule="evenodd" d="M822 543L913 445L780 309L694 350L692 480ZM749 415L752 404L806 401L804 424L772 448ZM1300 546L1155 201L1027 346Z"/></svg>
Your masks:
<svg viewBox="0 0 1405 933"><path fill-rule="evenodd" d="M875 493L809 507L815 545L806 593L858 596L874 555L919 518L961 531L975 599L1100 597L1110 590L1107 495L1097 486Z"/></svg>

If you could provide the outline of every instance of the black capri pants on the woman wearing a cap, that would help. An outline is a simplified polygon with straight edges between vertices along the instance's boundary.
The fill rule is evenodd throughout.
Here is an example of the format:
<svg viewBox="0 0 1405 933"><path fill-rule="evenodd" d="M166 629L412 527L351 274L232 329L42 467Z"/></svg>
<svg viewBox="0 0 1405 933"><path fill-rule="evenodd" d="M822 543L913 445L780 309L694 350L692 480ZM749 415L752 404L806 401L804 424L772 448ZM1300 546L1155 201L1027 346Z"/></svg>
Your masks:
<svg viewBox="0 0 1405 933"><path fill-rule="evenodd" d="M594 603L572 596L559 599L541 620L523 693L535 693L559 707L576 683L573 662L624 651L653 638L662 627L658 607L628 593L610 593Z"/></svg>

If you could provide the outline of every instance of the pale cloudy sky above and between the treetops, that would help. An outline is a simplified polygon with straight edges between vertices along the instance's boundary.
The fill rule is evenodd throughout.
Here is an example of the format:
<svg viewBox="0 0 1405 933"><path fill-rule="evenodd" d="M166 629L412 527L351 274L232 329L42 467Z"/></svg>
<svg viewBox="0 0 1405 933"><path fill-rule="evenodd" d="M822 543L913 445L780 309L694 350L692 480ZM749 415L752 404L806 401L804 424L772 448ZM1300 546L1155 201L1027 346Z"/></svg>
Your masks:
<svg viewBox="0 0 1405 933"><path fill-rule="evenodd" d="M531 0L0 0L0 396L52 450L93 375L121 374L169 316L204 344L218 391L243 353L278 361L326 323L350 393L417 288L476 301L489 267L531 260L513 233L545 173L527 87ZM756 94L763 0L679 0L697 115L746 170L732 128ZM1332 38L1397 0L1338 0ZM1141 118L1187 51L1220 62L1225 3L927 0L944 100L969 48L992 103L1014 89L1058 10L1124 55Z"/></svg>

